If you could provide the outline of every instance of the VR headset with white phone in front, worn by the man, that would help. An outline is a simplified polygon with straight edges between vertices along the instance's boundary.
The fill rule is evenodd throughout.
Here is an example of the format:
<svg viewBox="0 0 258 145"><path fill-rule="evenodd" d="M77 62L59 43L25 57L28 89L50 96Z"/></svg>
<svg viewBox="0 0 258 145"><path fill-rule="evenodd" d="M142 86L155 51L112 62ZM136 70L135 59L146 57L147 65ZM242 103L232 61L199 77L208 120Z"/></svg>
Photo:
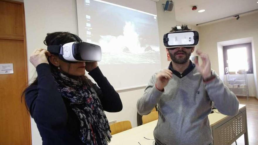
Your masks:
<svg viewBox="0 0 258 145"><path fill-rule="evenodd" d="M181 27L180 27L181 28ZM167 49L176 47L195 47L199 42L199 33L197 31L176 31L166 33L163 37L163 43Z"/></svg>

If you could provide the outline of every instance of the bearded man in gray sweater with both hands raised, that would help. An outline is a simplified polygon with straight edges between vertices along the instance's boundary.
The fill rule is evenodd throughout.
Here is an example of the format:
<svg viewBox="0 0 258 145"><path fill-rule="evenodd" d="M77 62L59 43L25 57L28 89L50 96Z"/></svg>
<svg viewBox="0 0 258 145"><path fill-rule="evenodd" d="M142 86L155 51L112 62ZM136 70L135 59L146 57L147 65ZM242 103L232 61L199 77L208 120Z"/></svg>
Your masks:
<svg viewBox="0 0 258 145"><path fill-rule="evenodd" d="M182 25L183 31L190 30ZM173 27L170 32L178 31ZM218 75L211 70L207 54L196 51L202 64L189 58L194 47L167 49L172 59L168 69L155 73L137 101L140 115L158 104L159 120L154 129L157 145L212 145L208 120L212 101L225 115L236 115L239 102Z"/></svg>

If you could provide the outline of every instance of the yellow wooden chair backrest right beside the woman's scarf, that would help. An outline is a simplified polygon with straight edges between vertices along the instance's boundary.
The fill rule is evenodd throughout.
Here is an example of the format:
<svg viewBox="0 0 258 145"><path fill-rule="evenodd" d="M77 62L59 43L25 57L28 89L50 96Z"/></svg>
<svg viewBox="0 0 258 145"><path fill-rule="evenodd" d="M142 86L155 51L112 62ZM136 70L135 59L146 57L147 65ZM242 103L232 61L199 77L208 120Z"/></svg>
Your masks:
<svg viewBox="0 0 258 145"><path fill-rule="evenodd" d="M121 121L110 125L111 135L123 132L131 128L132 124L130 121Z"/></svg>

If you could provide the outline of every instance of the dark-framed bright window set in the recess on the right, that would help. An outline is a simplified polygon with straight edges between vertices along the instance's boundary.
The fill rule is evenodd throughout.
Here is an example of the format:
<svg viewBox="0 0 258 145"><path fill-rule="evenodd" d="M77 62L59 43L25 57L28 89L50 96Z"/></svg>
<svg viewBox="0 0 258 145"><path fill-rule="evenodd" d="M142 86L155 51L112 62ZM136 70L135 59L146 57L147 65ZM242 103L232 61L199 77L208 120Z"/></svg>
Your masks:
<svg viewBox="0 0 258 145"><path fill-rule="evenodd" d="M253 73L251 43L223 46L224 67L229 71L245 69L247 74Z"/></svg>

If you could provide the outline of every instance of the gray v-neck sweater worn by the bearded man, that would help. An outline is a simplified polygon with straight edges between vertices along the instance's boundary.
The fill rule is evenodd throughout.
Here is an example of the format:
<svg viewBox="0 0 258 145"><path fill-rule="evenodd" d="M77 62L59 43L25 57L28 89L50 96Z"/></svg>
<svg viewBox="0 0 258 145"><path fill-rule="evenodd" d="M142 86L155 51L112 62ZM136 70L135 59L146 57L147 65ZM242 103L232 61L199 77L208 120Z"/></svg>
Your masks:
<svg viewBox="0 0 258 145"><path fill-rule="evenodd" d="M239 101L234 93L212 71L215 79L203 82L194 68L183 78L173 74L164 92L155 87L155 73L137 101L140 115L147 115L158 104L159 120L154 129L157 145L208 145L212 143L208 115L212 102L225 115L236 115Z"/></svg>

